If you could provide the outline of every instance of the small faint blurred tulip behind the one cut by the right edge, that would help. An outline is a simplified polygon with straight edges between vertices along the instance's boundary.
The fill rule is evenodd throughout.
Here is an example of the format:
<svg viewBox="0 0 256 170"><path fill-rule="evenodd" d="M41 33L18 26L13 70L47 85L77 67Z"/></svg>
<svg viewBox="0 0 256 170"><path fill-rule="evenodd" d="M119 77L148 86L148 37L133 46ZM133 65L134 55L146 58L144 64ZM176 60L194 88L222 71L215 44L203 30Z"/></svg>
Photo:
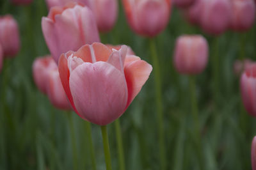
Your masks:
<svg viewBox="0 0 256 170"><path fill-rule="evenodd" d="M241 73L244 72L244 70L246 70L247 68L249 68L253 64L254 64L253 61L250 60L250 59L244 59L243 61L237 59L234 62L234 73L235 73L235 75L240 76Z"/></svg>

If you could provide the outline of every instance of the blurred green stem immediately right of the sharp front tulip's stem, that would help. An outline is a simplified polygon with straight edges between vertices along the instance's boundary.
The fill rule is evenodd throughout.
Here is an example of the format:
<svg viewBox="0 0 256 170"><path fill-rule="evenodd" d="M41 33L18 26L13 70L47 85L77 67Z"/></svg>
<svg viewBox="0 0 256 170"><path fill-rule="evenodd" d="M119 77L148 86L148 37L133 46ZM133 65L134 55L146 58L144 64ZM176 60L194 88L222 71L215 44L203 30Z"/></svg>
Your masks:
<svg viewBox="0 0 256 170"><path fill-rule="evenodd" d="M115 121L115 128L116 128L116 143L118 147L119 166L120 166L120 170L125 170L124 148L123 148L122 133L121 133L119 119Z"/></svg>

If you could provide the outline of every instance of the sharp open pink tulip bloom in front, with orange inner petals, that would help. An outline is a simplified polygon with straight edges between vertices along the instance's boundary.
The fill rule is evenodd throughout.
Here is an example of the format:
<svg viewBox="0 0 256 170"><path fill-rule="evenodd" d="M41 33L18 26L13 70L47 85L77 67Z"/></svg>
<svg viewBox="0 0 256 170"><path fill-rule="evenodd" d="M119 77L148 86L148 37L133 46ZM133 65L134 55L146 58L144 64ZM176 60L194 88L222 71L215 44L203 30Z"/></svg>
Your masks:
<svg viewBox="0 0 256 170"><path fill-rule="evenodd" d="M127 46L110 50L102 43L62 54L60 79L74 111L97 125L119 118L138 95L152 66L127 55Z"/></svg>

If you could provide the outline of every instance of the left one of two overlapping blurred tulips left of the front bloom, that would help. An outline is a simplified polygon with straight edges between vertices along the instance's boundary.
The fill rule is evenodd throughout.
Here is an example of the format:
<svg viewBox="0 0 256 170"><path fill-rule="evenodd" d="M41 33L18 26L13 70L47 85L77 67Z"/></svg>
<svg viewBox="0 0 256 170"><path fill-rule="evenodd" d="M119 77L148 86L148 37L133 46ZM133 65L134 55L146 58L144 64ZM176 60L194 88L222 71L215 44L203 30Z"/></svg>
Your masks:
<svg viewBox="0 0 256 170"><path fill-rule="evenodd" d="M36 58L33 62L33 78L36 86L42 93L47 93L47 79L49 70L58 68L51 56Z"/></svg>

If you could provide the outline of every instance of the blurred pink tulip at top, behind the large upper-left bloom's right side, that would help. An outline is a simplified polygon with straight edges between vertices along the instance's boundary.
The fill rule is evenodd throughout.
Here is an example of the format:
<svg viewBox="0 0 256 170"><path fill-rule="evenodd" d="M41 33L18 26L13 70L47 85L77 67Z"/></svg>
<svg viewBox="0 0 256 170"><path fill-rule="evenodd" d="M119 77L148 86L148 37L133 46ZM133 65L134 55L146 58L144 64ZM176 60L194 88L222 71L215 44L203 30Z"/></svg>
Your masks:
<svg viewBox="0 0 256 170"><path fill-rule="evenodd" d="M117 0L92 0L92 10L100 32L110 31L116 22L118 13Z"/></svg>

